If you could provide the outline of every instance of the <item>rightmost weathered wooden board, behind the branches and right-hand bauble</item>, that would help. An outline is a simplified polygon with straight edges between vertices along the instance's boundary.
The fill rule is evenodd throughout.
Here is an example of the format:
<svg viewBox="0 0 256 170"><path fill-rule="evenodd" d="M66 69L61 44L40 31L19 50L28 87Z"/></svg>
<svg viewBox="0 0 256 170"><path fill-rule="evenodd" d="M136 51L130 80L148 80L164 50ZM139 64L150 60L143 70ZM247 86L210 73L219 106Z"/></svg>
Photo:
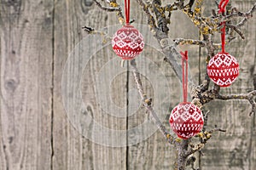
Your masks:
<svg viewBox="0 0 256 170"><path fill-rule="evenodd" d="M247 11L253 1L232 1L234 7ZM242 28L245 40L240 37L227 46L230 54L240 63L240 75L230 88L222 88L221 94L246 94L254 89L255 68L255 17ZM248 116L251 105L244 100L214 101L206 107L211 111L209 126L227 129L216 133L203 150L203 169L253 169L255 166L255 116Z"/></svg>

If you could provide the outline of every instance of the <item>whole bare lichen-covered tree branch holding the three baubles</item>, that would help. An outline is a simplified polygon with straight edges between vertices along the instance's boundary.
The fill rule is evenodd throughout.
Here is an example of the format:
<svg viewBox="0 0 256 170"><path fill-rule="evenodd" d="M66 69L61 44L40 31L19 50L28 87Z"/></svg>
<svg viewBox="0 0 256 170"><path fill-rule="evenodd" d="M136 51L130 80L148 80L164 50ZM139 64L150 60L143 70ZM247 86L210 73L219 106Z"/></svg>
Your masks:
<svg viewBox="0 0 256 170"><path fill-rule="evenodd" d="M109 0L107 1L110 7L103 7L101 3L98 3L97 0L94 0L96 5L99 8L102 8L104 11L114 12L116 11L119 16L119 22L124 24L124 16L122 14L122 10L116 0ZM187 2L187 1L186 1ZM216 14L214 10L212 10L212 16L203 17L201 16L201 5L203 0L189 0L189 3L184 5L184 0L177 0L174 4L166 5L165 7L161 6L160 0L153 0L152 3L144 3L143 0L137 0L137 3L143 8L143 12L146 14L148 18L148 26L150 26L151 31L154 33L154 37L160 42L162 53L165 54L165 60L172 66L173 71L175 71L177 77L179 78L180 82L182 82L182 68L181 65L177 63L177 59L180 59L180 54L177 52L175 48L178 44L195 44L200 45L201 47L207 48L207 62L209 59L214 56L216 50L218 48L218 44L214 44L212 42L212 34L218 32L221 29L220 23L226 21L227 23L227 38L229 40L234 39L233 33L236 32L241 38L244 38L240 27L244 26L249 18L252 17L253 11L256 8L256 3L254 3L253 8L251 8L247 13L241 13L236 8L231 9L227 7L229 10L226 16L222 14ZM192 6L195 3L195 8L192 10ZM218 5L218 2L216 1ZM172 10L180 9L186 14L190 20L198 27L201 31L203 36L203 40L191 40L191 39L183 39L177 38L175 43L172 44L168 42L168 24L171 22L171 12ZM166 12L169 12L169 15L166 17ZM242 20L238 24L232 23L232 20L241 17ZM88 31L89 33L99 34L99 32L95 31L90 27L84 26L84 30ZM250 113L253 114L256 112L256 104L254 101L254 97L256 96L256 90L250 92L248 94L230 94L230 95L221 95L219 94L220 88L218 85L214 84L211 89L209 89L210 78L207 75L207 62L206 62L206 71L205 71L205 80L201 83L200 86L197 86L192 89L191 96L192 96L192 103L201 107L205 105L207 102L212 101L213 99L247 99L249 103L252 105L252 111ZM160 122L159 117L157 116L154 108L151 105L151 99L147 97L143 90L143 84L141 82L140 74L137 71L137 65L135 59L131 60L131 71L133 73L134 80L137 85L137 90L143 100L143 105L145 109L148 111L149 115L152 117L152 120L160 130L160 132L164 135L168 143L175 144L177 149L177 168L184 169L186 163L189 164L187 161L189 156L194 154L196 151L201 150L205 144L207 143L208 139L211 139L212 133L219 131L225 132L218 127L208 131L208 132L201 132L197 135L200 138L199 144L190 144L191 150L189 150L189 142L190 140L183 140L183 139L175 139L175 136L171 135L166 131L166 127ZM208 112L205 114L207 119ZM206 124L207 126L207 124ZM204 127L204 130L206 127ZM187 161L187 162L186 162ZM193 161L193 159L191 159ZM193 162L191 162L192 164Z"/></svg>

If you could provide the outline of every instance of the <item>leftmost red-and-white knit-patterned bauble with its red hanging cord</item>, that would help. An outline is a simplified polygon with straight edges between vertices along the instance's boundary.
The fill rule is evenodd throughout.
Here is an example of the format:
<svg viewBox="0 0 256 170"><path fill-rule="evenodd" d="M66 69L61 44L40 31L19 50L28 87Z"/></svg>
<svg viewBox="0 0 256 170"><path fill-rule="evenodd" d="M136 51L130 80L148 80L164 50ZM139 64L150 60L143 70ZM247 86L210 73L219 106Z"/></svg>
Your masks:
<svg viewBox="0 0 256 170"><path fill-rule="evenodd" d="M143 35L130 25L130 0L125 0L126 24L113 35L113 51L122 59L134 59L144 48Z"/></svg>

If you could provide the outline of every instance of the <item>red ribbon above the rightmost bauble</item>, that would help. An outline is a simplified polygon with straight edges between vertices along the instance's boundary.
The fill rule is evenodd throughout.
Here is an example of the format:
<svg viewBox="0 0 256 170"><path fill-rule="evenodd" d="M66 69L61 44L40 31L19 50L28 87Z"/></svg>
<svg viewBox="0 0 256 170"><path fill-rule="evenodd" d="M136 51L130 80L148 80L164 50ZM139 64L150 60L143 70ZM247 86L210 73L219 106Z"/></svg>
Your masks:
<svg viewBox="0 0 256 170"><path fill-rule="evenodd" d="M227 4L229 3L229 0L221 0L218 4L218 14L224 14L225 12L225 8L227 6ZM222 47L222 52L225 52L225 27L226 27L226 23L222 22L221 26L223 26L223 28L221 29L222 33L221 33L221 47Z"/></svg>

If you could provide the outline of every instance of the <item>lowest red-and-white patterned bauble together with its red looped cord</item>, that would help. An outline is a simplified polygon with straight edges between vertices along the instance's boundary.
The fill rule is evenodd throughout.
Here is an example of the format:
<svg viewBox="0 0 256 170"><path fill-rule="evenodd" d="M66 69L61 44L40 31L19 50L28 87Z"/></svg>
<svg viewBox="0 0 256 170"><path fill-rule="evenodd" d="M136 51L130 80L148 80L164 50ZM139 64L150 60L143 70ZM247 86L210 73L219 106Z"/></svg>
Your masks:
<svg viewBox="0 0 256 170"><path fill-rule="evenodd" d="M200 133L204 124L201 110L190 102L187 102L188 95L188 51L181 52L183 66L183 103L178 104L172 110L169 122L174 133L181 139L189 139ZM186 73L184 73L184 61ZM185 74L185 75L184 75Z"/></svg>

